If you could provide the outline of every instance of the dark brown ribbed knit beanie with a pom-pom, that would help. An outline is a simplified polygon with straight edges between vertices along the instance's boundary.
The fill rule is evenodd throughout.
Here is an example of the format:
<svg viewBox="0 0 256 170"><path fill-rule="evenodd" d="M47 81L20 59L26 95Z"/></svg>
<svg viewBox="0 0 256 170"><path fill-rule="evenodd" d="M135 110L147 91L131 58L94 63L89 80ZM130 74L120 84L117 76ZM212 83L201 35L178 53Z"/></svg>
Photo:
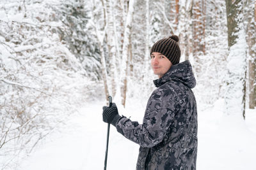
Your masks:
<svg viewBox="0 0 256 170"><path fill-rule="evenodd" d="M150 55L152 52L163 53L173 65L178 64L180 62L180 47L178 42L179 37L175 35L160 39L152 46Z"/></svg>

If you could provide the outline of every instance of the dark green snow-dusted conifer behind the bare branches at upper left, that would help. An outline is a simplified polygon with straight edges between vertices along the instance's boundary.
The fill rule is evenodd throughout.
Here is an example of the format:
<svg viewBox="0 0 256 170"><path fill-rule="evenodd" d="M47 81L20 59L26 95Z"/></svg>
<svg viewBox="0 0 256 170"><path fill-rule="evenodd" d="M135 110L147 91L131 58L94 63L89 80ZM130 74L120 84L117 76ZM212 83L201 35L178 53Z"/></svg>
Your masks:
<svg viewBox="0 0 256 170"><path fill-rule="evenodd" d="M97 39L92 36L92 28L88 27L90 9L84 1L59 1L52 6L55 20L61 20L65 29L57 29L60 40L82 63L85 75L94 80L100 79L100 52Z"/></svg>

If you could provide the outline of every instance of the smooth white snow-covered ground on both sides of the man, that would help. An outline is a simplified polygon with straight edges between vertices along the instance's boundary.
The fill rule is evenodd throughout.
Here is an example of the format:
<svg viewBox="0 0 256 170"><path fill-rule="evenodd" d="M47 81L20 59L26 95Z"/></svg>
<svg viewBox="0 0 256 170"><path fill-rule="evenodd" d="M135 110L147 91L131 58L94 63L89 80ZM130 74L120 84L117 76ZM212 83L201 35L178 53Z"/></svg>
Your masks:
<svg viewBox="0 0 256 170"><path fill-rule="evenodd" d="M79 115L68 120L63 133L52 134L51 139L22 161L19 170L103 169L107 124L102 122L102 103L81 108ZM243 121L224 116L222 108L223 101L219 100L213 108L198 110L197 169L256 169L256 111L246 110ZM136 120L143 117L144 108L118 110ZM108 169L135 169L138 148L111 126Z"/></svg>

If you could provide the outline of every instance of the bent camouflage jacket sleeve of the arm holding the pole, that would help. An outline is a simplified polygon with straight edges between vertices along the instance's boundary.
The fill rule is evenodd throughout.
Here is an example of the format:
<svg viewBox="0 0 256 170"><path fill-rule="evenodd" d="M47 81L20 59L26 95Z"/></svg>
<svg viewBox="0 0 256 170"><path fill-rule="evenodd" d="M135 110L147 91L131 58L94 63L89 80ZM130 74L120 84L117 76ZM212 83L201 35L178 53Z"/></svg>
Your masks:
<svg viewBox="0 0 256 170"><path fill-rule="evenodd" d="M175 94L155 90L148 99L143 124L132 122L126 117L120 118L116 129L125 138L138 143L140 146L151 148L163 141L166 131L175 117Z"/></svg>

